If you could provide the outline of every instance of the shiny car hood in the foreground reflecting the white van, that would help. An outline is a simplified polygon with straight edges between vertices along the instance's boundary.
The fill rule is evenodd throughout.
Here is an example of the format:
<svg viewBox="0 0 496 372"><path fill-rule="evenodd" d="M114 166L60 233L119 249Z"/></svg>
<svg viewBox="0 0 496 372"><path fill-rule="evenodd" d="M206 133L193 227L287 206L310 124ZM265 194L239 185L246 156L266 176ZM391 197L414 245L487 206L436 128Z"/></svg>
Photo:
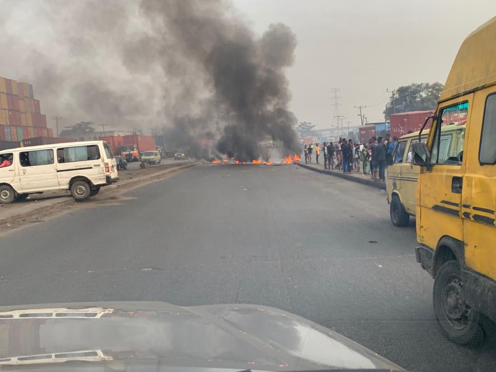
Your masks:
<svg viewBox="0 0 496 372"><path fill-rule="evenodd" d="M310 320L256 305L0 307L0 340L0 367L132 361L161 368L402 370Z"/></svg>

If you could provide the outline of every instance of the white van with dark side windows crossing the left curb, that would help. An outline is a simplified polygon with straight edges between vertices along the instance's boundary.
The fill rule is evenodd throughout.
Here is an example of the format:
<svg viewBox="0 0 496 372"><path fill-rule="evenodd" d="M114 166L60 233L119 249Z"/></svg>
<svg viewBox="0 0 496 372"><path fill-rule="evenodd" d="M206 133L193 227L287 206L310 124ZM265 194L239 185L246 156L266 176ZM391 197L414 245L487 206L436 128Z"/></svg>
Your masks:
<svg viewBox="0 0 496 372"><path fill-rule="evenodd" d="M74 199L84 200L118 180L116 160L105 141L0 150L0 203L48 190L70 190Z"/></svg>

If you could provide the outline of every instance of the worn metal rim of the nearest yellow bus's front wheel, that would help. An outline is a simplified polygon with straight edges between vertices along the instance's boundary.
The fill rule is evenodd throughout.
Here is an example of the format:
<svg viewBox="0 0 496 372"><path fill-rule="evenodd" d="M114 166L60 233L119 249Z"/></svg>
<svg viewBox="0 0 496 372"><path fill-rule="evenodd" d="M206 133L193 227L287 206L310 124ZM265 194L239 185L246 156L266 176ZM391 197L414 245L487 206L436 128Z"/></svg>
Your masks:
<svg viewBox="0 0 496 372"><path fill-rule="evenodd" d="M472 311L465 304L465 290L460 275L450 274L444 281L441 307L444 317L453 328L463 329L470 322Z"/></svg>

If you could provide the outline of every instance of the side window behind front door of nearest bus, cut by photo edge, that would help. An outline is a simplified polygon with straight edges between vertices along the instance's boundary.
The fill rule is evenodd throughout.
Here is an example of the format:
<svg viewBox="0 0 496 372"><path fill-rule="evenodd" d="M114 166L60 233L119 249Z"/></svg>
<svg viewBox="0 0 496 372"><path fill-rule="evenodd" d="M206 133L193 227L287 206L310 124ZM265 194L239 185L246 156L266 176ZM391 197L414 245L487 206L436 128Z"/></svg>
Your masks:
<svg viewBox="0 0 496 372"><path fill-rule="evenodd" d="M486 98L484 121L482 123L481 146L479 149L480 164L496 163L496 94Z"/></svg>

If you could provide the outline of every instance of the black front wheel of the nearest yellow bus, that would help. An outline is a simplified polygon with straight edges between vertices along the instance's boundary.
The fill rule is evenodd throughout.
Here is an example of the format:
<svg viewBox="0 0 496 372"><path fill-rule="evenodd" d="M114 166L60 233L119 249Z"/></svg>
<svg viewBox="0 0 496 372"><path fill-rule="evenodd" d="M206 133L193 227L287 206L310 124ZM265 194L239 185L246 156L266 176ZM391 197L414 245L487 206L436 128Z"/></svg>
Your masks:
<svg viewBox="0 0 496 372"><path fill-rule="evenodd" d="M462 345L482 340L479 313L465 303L458 261L445 262L437 271L433 302L437 322L449 340Z"/></svg>

